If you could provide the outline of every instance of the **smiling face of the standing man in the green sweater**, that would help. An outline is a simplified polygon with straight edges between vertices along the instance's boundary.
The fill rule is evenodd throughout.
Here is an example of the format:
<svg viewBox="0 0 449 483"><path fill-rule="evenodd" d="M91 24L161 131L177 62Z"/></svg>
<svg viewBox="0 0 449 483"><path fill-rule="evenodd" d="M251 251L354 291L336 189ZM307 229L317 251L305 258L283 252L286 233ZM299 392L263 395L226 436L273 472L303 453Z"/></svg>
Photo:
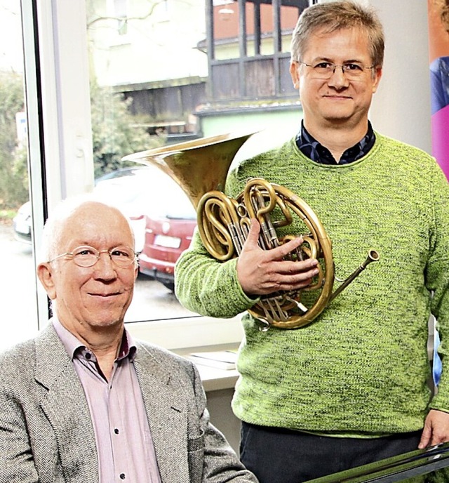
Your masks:
<svg viewBox="0 0 449 483"><path fill-rule="evenodd" d="M319 30L311 34L300 60L309 65L319 62L372 65L367 34L358 28L330 33ZM360 79L349 80L337 67L329 79L316 79L312 67L292 62L290 74L300 92L304 125L312 135L332 126L360 128L366 132L368 110L382 75L380 68L363 70Z"/></svg>

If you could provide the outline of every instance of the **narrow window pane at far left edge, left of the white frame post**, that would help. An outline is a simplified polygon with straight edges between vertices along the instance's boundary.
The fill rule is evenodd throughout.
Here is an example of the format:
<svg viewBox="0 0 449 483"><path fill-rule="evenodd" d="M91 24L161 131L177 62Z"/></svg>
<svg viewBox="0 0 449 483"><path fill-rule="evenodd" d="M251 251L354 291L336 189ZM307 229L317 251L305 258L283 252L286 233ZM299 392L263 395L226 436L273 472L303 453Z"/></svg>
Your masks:
<svg viewBox="0 0 449 483"><path fill-rule="evenodd" d="M0 349L37 331L20 0L0 1Z"/></svg>

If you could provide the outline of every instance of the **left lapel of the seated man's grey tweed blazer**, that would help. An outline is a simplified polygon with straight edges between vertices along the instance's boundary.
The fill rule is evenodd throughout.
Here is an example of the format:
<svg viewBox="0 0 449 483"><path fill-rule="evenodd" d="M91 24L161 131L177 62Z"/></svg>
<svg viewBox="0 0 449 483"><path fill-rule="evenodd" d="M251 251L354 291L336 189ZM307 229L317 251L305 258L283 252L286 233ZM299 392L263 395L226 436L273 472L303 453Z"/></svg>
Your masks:
<svg viewBox="0 0 449 483"><path fill-rule="evenodd" d="M55 432L67 482L98 483L91 413L72 360L51 324L36 340L35 376L41 385L41 408Z"/></svg>

